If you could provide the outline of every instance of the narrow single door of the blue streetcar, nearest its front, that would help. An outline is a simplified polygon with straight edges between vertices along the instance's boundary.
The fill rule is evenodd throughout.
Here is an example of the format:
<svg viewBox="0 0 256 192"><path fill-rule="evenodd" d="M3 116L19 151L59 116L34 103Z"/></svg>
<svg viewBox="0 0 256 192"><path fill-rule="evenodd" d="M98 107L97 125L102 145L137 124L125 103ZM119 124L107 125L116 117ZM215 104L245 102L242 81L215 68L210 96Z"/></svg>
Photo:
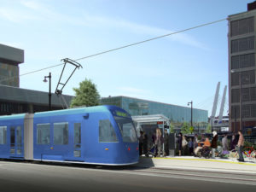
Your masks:
<svg viewBox="0 0 256 192"><path fill-rule="evenodd" d="M82 160L81 123L73 124L73 159L74 160Z"/></svg>

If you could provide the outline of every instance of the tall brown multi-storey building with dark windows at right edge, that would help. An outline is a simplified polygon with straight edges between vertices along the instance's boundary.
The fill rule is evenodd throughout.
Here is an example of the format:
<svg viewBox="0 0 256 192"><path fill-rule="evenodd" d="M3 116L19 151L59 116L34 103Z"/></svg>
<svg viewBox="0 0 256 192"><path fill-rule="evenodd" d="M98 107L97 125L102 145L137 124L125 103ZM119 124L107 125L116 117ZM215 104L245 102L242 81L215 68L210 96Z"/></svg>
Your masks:
<svg viewBox="0 0 256 192"><path fill-rule="evenodd" d="M229 20L230 131L256 126L256 1Z"/></svg>

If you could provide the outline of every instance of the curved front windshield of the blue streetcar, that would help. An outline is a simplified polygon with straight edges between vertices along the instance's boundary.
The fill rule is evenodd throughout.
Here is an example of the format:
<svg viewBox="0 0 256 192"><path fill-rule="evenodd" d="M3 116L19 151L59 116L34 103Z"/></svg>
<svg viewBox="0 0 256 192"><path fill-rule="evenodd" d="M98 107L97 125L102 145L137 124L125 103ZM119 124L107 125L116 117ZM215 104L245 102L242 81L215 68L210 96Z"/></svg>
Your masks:
<svg viewBox="0 0 256 192"><path fill-rule="evenodd" d="M136 134L135 127L134 127L131 119L117 117L117 116L114 116L114 119L115 119L117 125L119 125L119 130L123 137L123 142L124 143L136 143L137 142L137 134Z"/></svg>

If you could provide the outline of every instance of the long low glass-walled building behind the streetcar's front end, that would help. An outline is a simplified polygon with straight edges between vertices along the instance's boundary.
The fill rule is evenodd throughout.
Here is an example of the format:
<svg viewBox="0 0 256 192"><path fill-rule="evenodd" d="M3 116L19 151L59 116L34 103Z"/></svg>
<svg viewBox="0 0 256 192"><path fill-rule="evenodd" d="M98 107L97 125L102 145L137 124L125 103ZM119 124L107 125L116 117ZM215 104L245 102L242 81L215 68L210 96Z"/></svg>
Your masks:
<svg viewBox="0 0 256 192"><path fill-rule="evenodd" d="M181 107L162 102L152 102L143 99L131 98L127 96L103 97L102 105L115 105L124 108L131 116L163 114L172 122L190 122L191 108ZM207 110L193 108L193 123L207 123Z"/></svg>

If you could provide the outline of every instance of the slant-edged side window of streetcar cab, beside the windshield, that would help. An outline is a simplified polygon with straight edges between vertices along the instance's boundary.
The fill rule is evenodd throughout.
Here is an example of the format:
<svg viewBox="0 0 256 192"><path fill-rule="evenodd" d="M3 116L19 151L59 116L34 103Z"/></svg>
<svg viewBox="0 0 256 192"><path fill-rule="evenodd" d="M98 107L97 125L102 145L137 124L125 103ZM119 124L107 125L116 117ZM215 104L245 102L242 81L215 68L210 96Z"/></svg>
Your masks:
<svg viewBox="0 0 256 192"><path fill-rule="evenodd" d="M100 120L99 124L100 142L118 142L113 125L111 125L109 119Z"/></svg>

